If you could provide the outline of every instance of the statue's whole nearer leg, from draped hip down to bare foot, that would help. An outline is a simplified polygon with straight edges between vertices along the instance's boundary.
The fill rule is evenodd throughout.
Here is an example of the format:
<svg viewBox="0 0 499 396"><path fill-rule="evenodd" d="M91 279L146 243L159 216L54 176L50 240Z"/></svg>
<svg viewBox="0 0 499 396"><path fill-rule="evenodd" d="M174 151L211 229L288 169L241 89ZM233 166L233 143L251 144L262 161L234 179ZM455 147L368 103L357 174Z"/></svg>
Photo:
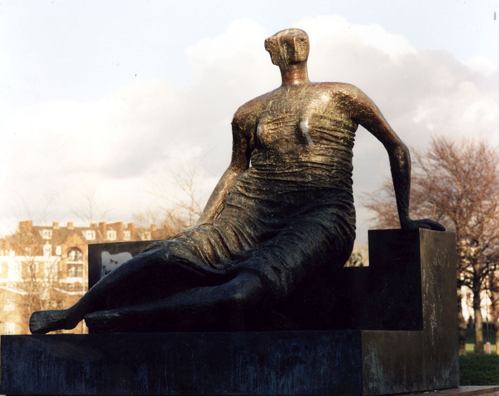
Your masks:
<svg viewBox="0 0 499 396"><path fill-rule="evenodd" d="M245 310L256 303L271 304L286 298L307 272L326 259L342 266L351 245L352 241L339 233L324 232L320 222L296 222L296 227L250 249L244 259L235 262L233 268L238 272L229 282L140 305L92 312L85 316L85 322L92 332L177 331L210 327L222 317L229 319L231 330L244 330ZM243 328L238 328L239 324Z"/></svg>

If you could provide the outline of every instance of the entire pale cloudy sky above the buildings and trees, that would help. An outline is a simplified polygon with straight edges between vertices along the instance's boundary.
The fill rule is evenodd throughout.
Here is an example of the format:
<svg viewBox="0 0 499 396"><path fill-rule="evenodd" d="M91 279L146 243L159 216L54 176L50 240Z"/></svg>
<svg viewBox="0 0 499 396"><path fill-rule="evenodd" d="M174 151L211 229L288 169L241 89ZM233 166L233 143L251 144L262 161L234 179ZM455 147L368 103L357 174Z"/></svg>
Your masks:
<svg viewBox="0 0 499 396"><path fill-rule="evenodd" d="M310 37L309 76L360 87L410 147L432 136L499 144L497 1L1 1L0 235L19 220L133 220L180 196L205 199L230 160L230 122L280 83L263 40ZM360 205L389 175L359 128ZM99 210L105 208L102 215Z"/></svg>

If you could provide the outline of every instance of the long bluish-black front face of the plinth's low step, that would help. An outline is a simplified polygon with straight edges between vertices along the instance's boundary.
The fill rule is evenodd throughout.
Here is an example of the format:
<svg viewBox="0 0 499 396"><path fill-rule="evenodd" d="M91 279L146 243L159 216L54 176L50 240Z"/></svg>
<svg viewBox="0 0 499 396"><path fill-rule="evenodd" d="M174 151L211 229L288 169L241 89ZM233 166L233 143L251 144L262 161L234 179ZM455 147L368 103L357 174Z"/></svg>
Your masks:
<svg viewBox="0 0 499 396"><path fill-rule="evenodd" d="M0 392L362 395L361 338L360 331L2 336Z"/></svg>

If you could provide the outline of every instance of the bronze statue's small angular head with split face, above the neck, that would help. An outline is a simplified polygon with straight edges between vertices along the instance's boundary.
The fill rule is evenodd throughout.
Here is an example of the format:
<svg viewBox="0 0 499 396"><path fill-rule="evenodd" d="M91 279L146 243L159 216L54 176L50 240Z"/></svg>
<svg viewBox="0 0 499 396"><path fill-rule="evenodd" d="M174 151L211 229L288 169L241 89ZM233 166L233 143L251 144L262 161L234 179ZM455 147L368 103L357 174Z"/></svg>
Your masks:
<svg viewBox="0 0 499 396"><path fill-rule="evenodd" d="M310 42L301 29L285 29L265 39L265 50L277 66L304 62L308 58Z"/></svg>

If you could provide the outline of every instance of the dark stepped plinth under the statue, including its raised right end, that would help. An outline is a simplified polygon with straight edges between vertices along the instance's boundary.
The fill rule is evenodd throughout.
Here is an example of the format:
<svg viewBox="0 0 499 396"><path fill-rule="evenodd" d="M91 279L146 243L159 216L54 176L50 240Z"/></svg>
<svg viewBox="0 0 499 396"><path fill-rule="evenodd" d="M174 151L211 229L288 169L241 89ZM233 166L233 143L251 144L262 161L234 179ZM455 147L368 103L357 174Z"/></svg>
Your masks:
<svg viewBox="0 0 499 396"><path fill-rule="evenodd" d="M457 387L454 235L370 231L369 257L369 267L344 268L311 297L294 296L281 314L293 319L305 302L299 330L1 336L0 394L367 396ZM328 296L339 297L323 304Z"/></svg>

